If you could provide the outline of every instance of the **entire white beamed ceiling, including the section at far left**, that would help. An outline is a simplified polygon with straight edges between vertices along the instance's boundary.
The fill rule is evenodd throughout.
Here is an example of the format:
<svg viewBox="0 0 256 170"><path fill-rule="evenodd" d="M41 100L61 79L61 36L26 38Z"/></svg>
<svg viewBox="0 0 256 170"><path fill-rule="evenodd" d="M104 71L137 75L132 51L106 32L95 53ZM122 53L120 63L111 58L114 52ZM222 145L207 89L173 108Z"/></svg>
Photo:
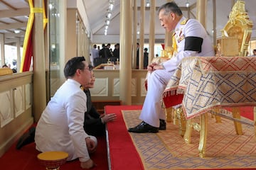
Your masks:
<svg viewBox="0 0 256 170"><path fill-rule="evenodd" d="M57 0L56 0L57 1ZM63 1L63 0L58 0ZM67 0L68 7L70 4L74 4L75 0ZM82 0L85 4L85 11L90 24L90 32L93 35L104 35L105 19L108 8L109 0ZM123 0L124 1L124 0ZM140 1L137 0L137 6L140 7ZM145 0L148 1L148 0ZM186 2L189 2L191 6L196 6L196 0L176 0L178 6L181 6L183 15L187 15ZM217 6L217 35L220 35L220 29L225 26L228 21L228 15L232 8L233 0L215 0ZM156 8L161 4L166 3L166 0L156 0ZM194 5L193 5L194 4ZM207 30L209 35L212 35L213 30L213 0L208 0L208 16L207 16ZM250 16L250 19L255 24L252 30L252 37L256 38L256 1L245 0L245 8ZM190 17L196 16L196 8L190 8ZM28 2L26 0L0 0L0 33L5 35L6 43L15 40L14 38L23 38L26 31L27 16L29 13ZM107 31L107 35L119 35L119 19L120 19L120 0L114 0L114 9L112 11L112 17L110 18L110 26ZM144 33L149 33L149 8L146 8L145 12L145 30ZM137 21L139 23L140 12L137 11ZM138 24L137 23L137 24ZM161 28L159 19L156 16L155 34L164 35L165 30ZM20 30L21 33L14 33L14 30Z"/></svg>

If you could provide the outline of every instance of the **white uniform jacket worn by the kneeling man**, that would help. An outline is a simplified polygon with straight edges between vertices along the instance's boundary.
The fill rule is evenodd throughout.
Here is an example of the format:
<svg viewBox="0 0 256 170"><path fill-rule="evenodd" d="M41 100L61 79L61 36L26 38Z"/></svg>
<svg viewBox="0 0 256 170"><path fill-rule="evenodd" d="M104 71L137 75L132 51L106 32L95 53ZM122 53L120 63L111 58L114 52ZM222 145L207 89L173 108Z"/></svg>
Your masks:
<svg viewBox="0 0 256 170"><path fill-rule="evenodd" d="M86 95L80 84L68 79L60 86L43 111L36 126L36 149L41 152L68 152L68 160L76 158L80 162L90 159L83 128Z"/></svg>

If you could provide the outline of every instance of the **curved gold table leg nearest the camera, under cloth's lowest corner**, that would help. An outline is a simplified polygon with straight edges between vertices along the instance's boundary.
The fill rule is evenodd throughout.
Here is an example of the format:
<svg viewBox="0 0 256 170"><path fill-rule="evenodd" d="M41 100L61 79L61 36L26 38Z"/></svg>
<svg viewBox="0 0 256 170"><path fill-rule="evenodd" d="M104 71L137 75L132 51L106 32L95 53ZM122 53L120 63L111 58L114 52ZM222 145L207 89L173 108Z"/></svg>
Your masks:
<svg viewBox="0 0 256 170"><path fill-rule="evenodd" d="M204 113L200 116L201 119L201 130L200 130L200 140L199 140L199 157L203 158L206 156L206 139L208 132L208 113Z"/></svg>

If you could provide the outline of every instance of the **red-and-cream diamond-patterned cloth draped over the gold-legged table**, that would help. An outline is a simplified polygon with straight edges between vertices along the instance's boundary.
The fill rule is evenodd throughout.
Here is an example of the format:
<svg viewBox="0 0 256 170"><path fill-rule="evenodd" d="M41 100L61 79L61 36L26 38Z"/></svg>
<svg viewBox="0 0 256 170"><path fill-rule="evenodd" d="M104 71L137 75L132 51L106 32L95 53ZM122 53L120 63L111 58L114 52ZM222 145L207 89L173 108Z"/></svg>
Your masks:
<svg viewBox="0 0 256 170"><path fill-rule="evenodd" d="M166 108L181 103L186 118L216 106L256 106L256 57L187 57L163 95Z"/></svg>

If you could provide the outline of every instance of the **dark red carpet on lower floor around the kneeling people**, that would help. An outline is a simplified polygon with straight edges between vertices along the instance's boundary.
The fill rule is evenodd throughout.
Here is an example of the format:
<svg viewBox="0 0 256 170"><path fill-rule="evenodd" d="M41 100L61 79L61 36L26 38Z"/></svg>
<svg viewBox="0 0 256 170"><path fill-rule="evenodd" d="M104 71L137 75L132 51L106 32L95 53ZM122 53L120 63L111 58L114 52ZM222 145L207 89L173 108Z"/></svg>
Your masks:
<svg viewBox="0 0 256 170"><path fill-rule="evenodd" d="M107 170L107 143L105 137L97 137L97 151L91 155L91 159L97 164L92 170ZM17 150L16 143L0 158L1 169L8 170L45 170L46 168L39 164L35 143L31 143ZM78 170L80 162L78 159L72 162L66 162L60 166L60 170Z"/></svg>

